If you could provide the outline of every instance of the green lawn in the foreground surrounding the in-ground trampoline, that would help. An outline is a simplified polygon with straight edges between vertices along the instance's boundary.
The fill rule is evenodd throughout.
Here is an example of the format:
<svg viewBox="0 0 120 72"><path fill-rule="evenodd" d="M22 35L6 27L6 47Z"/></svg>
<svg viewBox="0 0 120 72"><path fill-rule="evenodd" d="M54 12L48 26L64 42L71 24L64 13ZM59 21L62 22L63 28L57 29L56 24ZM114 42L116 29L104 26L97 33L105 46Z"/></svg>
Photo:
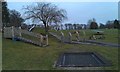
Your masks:
<svg viewBox="0 0 120 72"><path fill-rule="evenodd" d="M39 32L39 31L38 31ZM118 48L63 44L49 35L49 46L38 47L21 41L3 39L3 70L41 70L53 68L58 56L66 51L95 51L110 60L113 66L103 67L103 70L118 69Z"/></svg>

